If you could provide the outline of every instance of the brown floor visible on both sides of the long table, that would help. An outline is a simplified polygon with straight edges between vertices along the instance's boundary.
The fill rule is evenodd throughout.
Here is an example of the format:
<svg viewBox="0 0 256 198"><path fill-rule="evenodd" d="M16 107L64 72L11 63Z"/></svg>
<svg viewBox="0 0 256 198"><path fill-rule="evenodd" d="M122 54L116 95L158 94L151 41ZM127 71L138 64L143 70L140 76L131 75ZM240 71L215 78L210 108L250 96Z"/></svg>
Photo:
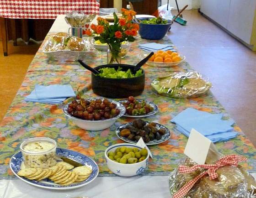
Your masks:
<svg viewBox="0 0 256 198"><path fill-rule="evenodd" d="M194 69L210 78L213 94L256 145L256 52L236 41L197 10L186 10L187 26L177 23L170 37ZM1 43L0 43L1 44ZM38 45L0 51L0 120L11 104Z"/></svg>

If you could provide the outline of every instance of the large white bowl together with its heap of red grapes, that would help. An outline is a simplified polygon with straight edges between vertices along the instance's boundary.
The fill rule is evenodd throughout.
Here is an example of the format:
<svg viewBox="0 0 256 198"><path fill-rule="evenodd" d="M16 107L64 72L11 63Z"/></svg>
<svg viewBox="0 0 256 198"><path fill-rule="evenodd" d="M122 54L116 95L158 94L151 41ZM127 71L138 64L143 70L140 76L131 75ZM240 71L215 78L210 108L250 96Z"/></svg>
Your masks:
<svg viewBox="0 0 256 198"><path fill-rule="evenodd" d="M76 99L63 107L63 111L81 129L104 130L125 114L125 107L111 99L80 99L76 96Z"/></svg>

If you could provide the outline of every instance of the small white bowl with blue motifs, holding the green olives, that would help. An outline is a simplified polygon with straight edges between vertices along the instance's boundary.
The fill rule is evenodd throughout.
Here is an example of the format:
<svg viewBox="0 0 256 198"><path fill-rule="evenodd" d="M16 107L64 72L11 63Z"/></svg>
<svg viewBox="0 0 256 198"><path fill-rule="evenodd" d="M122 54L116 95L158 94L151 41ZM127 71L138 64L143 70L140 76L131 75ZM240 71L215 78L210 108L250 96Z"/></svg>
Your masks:
<svg viewBox="0 0 256 198"><path fill-rule="evenodd" d="M146 166L148 165L149 153L145 160L135 163L135 164L122 164L119 162L114 162L108 158L108 156L107 156L108 152L115 151L118 147L122 147L122 146L126 146L129 148L138 148L140 150L143 149L140 146L137 146L135 144L128 144L128 143L115 144L115 145L109 146L105 151L107 167L116 175L124 176L124 177L131 177L131 176L138 175L138 174L144 172Z"/></svg>

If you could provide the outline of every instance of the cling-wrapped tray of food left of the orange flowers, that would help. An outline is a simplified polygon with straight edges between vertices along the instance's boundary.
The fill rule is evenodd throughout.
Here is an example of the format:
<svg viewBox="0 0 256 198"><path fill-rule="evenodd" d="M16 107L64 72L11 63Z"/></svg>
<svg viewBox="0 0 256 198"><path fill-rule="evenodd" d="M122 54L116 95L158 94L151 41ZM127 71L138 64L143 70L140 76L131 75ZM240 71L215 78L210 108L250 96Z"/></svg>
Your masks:
<svg viewBox="0 0 256 198"><path fill-rule="evenodd" d="M87 53L96 52L96 49L88 39L59 32L45 42L43 52L51 59L65 61L83 59Z"/></svg>

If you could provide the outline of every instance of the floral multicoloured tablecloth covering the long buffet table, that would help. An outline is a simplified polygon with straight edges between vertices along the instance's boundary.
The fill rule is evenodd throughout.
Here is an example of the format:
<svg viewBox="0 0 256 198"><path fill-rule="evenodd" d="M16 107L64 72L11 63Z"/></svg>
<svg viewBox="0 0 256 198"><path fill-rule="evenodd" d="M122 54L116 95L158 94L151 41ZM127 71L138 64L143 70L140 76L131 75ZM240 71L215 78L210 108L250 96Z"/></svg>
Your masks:
<svg viewBox="0 0 256 198"><path fill-rule="evenodd" d="M133 42L128 56L122 60L122 63L133 65L138 63L137 54L143 52L138 45L145 42L148 41L138 39ZM171 43L167 37L159 42ZM106 59L106 52L99 52L93 57L86 58L85 62L91 66L98 66L105 64ZM149 167L142 174L168 175L184 157L183 150L187 143L187 137L174 129L174 124L170 122L171 118L188 107L210 113L224 113L226 119L229 118L229 115L211 93L196 99L172 99L160 96L152 90L150 83L159 74L171 71L191 71L192 68L188 63L169 69L153 68L147 65L144 65L143 68L146 71L146 85L143 94L138 98L152 101L159 107L159 112L146 120L166 125L171 130L171 138L160 145L149 146L153 159L149 160ZM86 131L67 120L61 109L62 105L24 101L25 96L31 93L36 84L67 83L71 84L74 90L83 86L85 97L96 96L91 90L91 73L89 71L86 71L77 62L48 61L41 47L33 59L11 107L0 123L0 178L15 178L9 168L11 156L19 151L22 141L41 136L53 138L57 141L58 147L90 156L100 168L99 177L115 176L107 168L104 151L108 146L123 142L116 136L115 129L118 125L131 121L130 119L118 119L106 130ZM256 149L237 125L234 128L239 135L230 141L216 143L216 146L224 155L235 153L247 157L248 163L243 166L250 172L256 172Z"/></svg>

